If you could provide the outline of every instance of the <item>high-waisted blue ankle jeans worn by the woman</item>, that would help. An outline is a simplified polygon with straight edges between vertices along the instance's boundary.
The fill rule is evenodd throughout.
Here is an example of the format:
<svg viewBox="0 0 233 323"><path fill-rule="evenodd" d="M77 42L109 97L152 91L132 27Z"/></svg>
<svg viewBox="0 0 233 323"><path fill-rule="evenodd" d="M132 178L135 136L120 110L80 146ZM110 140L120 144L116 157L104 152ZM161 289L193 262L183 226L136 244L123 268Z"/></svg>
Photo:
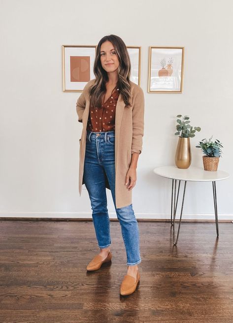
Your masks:
<svg viewBox="0 0 233 323"><path fill-rule="evenodd" d="M117 218L121 225L127 265L133 266L141 262L139 231L132 204L116 208L115 131L92 132L87 130L83 177L91 200L93 223L101 249L107 248L111 244L104 171L110 186Z"/></svg>

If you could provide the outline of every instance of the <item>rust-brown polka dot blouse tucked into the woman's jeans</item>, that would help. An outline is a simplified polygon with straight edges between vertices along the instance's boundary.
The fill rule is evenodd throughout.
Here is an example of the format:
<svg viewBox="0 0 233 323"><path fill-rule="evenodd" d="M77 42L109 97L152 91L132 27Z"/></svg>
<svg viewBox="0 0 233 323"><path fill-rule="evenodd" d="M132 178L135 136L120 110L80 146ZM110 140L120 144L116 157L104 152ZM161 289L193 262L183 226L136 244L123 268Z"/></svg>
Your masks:
<svg viewBox="0 0 233 323"><path fill-rule="evenodd" d="M102 102L101 108L96 108L93 105L90 106L87 130L93 132L115 130L115 115L118 97L119 89L115 88L112 90L110 97L108 97L105 102Z"/></svg>

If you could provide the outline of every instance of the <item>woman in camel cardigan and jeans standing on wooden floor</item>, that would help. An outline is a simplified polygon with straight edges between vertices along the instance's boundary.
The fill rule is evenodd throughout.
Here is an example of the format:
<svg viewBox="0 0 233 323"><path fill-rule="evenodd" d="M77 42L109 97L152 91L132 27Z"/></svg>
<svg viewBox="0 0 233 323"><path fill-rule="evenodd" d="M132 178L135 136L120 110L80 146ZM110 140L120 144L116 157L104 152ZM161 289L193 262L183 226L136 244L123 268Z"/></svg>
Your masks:
<svg viewBox="0 0 233 323"><path fill-rule="evenodd" d="M138 156L144 131L144 95L130 81L130 57L123 40L104 36L97 46L96 79L78 98L78 121L83 123L79 154L79 193L85 184L100 253L88 264L93 271L111 261L110 223L106 188L111 190L127 254L127 275L120 294L133 293L139 282L139 232L132 207Z"/></svg>

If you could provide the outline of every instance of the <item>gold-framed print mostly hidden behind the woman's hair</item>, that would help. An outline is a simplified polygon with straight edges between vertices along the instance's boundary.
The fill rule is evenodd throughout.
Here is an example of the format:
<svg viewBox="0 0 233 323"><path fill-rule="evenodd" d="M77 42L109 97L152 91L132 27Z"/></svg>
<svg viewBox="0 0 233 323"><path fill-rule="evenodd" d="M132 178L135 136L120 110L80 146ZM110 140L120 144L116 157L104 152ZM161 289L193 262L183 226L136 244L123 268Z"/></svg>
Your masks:
<svg viewBox="0 0 233 323"><path fill-rule="evenodd" d="M131 75L130 80L140 86L141 74L141 47L127 46L131 62Z"/></svg>

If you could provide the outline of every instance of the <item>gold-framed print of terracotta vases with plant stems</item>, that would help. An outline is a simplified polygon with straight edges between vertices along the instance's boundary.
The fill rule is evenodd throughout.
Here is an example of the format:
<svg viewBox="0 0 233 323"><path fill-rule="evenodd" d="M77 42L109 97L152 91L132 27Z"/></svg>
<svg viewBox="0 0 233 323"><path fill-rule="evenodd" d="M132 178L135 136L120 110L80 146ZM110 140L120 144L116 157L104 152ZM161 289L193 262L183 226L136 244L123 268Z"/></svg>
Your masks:
<svg viewBox="0 0 233 323"><path fill-rule="evenodd" d="M184 47L149 47L149 93L182 93Z"/></svg>

